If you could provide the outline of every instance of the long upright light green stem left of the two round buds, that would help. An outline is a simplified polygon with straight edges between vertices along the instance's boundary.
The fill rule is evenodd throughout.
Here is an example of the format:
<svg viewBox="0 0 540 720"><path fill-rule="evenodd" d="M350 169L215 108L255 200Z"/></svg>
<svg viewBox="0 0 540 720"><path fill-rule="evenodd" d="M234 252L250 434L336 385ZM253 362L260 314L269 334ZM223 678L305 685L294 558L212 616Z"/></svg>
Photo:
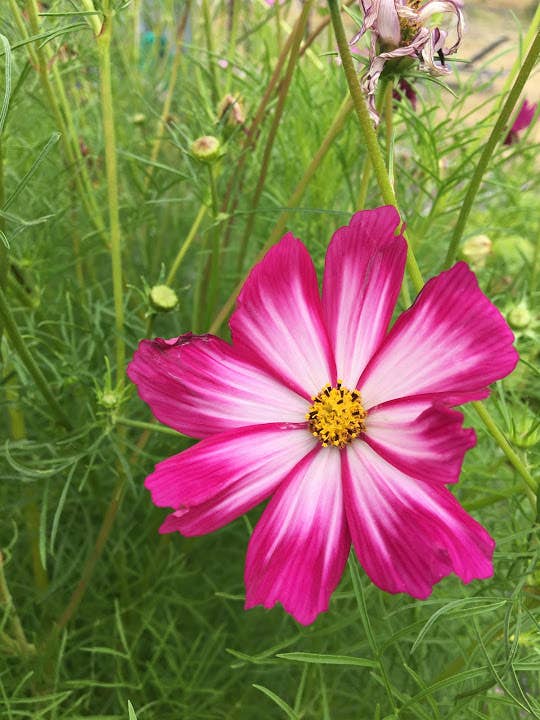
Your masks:
<svg viewBox="0 0 540 720"><path fill-rule="evenodd" d="M116 167L116 136L114 129L114 106L111 79L111 39L113 11L110 0L104 3L103 26L96 38L99 51L99 76L103 136L105 140L105 165L107 172L107 197L109 205L111 265L114 295L116 331L116 383L124 383L126 349L124 342L124 299L122 280L122 250L120 211L118 204L118 173Z"/></svg>

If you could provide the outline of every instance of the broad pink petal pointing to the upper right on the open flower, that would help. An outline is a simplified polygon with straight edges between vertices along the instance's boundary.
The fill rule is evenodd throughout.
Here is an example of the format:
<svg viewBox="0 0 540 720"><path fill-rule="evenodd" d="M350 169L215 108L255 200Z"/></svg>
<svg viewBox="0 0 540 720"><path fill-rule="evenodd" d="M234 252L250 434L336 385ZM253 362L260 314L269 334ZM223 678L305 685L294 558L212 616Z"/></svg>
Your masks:
<svg viewBox="0 0 540 720"><path fill-rule="evenodd" d="M450 404L485 397L518 354L503 316L465 263L430 280L396 321L359 381L365 408L412 395Z"/></svg>

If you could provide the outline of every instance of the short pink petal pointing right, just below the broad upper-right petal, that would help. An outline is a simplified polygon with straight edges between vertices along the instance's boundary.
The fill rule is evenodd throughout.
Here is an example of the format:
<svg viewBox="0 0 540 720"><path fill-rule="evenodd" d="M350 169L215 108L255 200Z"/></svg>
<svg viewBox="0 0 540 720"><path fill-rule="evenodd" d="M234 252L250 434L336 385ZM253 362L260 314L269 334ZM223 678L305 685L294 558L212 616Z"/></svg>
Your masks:
<svg viewBox="0 0 540 720"><path fill-rule="evenodd" d="M454 483L465 453L476 444L474 430L462 423L463 415L456 410L421 397L408 398L371 410L364 439L406 475Z"/></svg>

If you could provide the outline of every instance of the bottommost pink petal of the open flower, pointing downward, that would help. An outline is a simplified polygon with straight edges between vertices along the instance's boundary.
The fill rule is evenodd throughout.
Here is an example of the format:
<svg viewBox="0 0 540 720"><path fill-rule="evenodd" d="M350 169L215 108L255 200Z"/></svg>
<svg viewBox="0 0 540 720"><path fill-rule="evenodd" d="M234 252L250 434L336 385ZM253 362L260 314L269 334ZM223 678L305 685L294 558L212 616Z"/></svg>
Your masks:
<svg viewBox="0 0 540 720"><path fill-rule="evenodd" d="M339 450L316 450L270 501L249 543L246 608L281 602L303 625L328 609L350 547L340 465Z"/></svg>

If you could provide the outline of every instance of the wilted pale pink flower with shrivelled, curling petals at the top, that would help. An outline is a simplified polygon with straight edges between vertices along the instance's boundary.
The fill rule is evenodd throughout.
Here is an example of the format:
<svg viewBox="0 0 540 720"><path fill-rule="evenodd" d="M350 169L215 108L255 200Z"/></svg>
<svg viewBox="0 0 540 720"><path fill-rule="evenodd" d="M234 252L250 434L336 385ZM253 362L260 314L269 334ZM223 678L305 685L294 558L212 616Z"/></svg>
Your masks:
<svg viewBox="0 0 540 720"><path fill-rule="evenodd" d="M360 0L364 22L352 39L357 42L368 30L371 33L370 64L363 80L369 108L378 122L375 110L375 88L384 66L389 60L413 58L420 60L422 69L431 75L447 75L444 58L456 52L463 32L462 0ZM434 15L451 13L457 20L456 42L446 47L448 33L430 27ZM435 64L434 57L440 63Z"/></svg>

